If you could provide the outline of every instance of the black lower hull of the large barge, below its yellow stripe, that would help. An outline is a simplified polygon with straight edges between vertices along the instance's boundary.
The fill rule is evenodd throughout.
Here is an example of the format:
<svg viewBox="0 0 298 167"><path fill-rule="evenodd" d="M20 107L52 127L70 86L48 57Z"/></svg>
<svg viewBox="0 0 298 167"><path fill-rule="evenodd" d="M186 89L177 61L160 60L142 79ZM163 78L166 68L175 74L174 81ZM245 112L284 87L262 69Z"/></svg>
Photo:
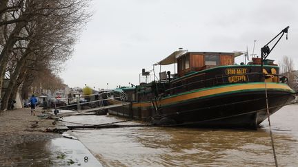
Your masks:
<svg viewBox="0 0 298 167"><path fill-rule="evenodd" d="M257 129L267 117L265 91L245 91L212 98L199 98L167 107L117 107L112 115L152 121L155 124ZM268 91L270 114L295 97L288 91ZM152 119L153 118L153 119Z"/></svg>

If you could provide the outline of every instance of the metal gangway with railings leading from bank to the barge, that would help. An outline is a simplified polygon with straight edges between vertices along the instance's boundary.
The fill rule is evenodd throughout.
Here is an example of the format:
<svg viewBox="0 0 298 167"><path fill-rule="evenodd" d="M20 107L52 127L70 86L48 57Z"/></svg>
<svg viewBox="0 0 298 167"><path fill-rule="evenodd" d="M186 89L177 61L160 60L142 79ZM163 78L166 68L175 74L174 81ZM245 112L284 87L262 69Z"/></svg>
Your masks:
<svg viewBox="0 0 298 167"><path fill-rule="evenodd" d="M81 102L81 99L86 99L86 98L89 99L88 102ZM130 104L130 102L125 102L126 93L124 93L123 91L105 91L101 93L90 94L87 96L77 96L75 99L76 99L75 104L73 102L74 98L68 98L68 103L72 101L73 104L68 104L61 107L55 107L55 109L68 109L69 107L77 107L77 111L58 113L57 115L83 115L86 113L101 111L104 109L112 109L115 107L121 107L121 106L126 106ZM113 102L115 104L108 104L107 102L108 100L110 100L110 102ZM90 108L82 109L84 108L83 106L86 104L88 104L88 107Z"/></svg>

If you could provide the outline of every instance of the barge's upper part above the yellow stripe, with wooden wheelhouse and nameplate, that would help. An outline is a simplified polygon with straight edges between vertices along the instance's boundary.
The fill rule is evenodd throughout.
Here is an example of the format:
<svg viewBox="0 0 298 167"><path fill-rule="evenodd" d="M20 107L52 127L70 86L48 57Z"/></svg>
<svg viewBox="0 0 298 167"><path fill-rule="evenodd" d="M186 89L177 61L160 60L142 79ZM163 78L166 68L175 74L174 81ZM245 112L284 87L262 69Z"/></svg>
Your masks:
<svg viewBox="0 0 298 167"><path fill-rule="evenodd" d="M264 60L261 70L261 58L252 58L247 65L235 65L235 57L244 52L187 52L179 50L155 65L177 64L177 74L170 75L169 85L165 94L172 95L193 89L208 88L220 85L229 85L239 82L279 82L279 67L274 60ZM176 67L176 66L175 66ZM263 72L261 72L263 71ZM165 79L159 74L159 82ZM264 74L268 74L264 78Z"/></svg>

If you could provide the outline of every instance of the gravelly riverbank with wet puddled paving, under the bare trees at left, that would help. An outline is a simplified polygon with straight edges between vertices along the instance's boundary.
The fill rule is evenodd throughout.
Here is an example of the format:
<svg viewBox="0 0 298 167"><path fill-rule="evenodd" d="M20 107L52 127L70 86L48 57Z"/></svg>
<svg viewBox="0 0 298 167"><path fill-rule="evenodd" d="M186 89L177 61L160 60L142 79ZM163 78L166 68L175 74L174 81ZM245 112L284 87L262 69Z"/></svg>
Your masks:
<svg viewBox="0 0 298 167"><path fill-rule="evenodd" d="M0 166L100 166L78 140L63 138L54 129L54 120L41 119L41 108L1 111ZM84 157L88 161L84 162Z"/></svg>

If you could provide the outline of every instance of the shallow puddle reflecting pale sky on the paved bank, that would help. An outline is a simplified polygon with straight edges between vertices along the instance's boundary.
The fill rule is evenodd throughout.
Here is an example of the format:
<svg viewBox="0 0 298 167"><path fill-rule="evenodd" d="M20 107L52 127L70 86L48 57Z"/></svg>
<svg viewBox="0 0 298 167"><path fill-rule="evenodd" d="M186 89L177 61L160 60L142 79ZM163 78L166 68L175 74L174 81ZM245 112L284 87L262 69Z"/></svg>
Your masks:
<svg viewBox="0 0 298 167"><path fill-rule="evenodd" d="M14 147L11 166L101 166L78 140L57 138L43 142L27 142Z"/></svg>

